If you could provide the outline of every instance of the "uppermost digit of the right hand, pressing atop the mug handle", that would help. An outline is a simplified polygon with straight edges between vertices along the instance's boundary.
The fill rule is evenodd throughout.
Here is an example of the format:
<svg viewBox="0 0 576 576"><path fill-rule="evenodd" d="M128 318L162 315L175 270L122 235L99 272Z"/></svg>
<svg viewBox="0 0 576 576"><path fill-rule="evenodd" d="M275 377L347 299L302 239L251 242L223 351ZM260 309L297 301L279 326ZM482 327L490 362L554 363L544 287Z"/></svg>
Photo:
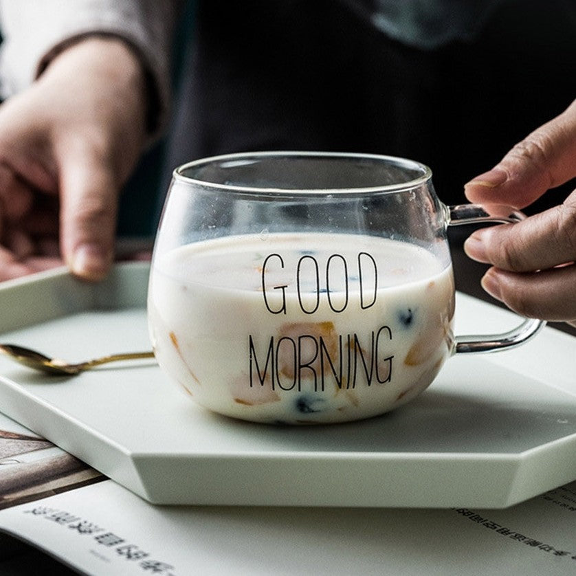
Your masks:
<svg viewBox="0 0 576 576"><path fill-rule="evenodd" d="M465 194L476 203L524 208L576 176L576 100L562 114L516 144L502 161L469 181Z"/></svg>

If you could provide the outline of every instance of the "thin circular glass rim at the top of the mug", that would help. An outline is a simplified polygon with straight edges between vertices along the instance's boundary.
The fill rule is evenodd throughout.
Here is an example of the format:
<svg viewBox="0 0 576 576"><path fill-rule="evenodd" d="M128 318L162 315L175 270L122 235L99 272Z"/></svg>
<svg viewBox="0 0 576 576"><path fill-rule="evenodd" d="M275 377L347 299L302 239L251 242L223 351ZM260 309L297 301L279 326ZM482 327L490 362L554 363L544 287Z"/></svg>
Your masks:
<svg viewBox="0 0 576 576"><path fill-rule="evenodd" d="M267 157L324 157L324 158L341 158L341 159L366 159L375 160L378 162L388 162L401 166L406 166L412 170L421 170L422 174L418 177L412 178L407 181L395 184L381 184L377 186L364 186L364 187L351 187L346 188L298 188L296 186L286 186L285 188L277 188L271 186L244 186L239 184L221 184L209 179L202 179L187 176L184 174L185 170L195 168L203 165L214 164L216 162L250 162L251 160L258 160ZM325 152L325 151L255 151L255 152L237 152L230 154L214 155L203 157L186 162L177 166L173 170L173 181L179 181L183 184L194 184L204 188L217 188L218 190L229 190L230 192L244 192L248 194L258 195L356 195L375 192L399 192L401 190L412 190L423 184L426 184L432 179L432 170L422 162L412 160L400 156L373 154L373 153L357 153L357 152Z"/></svg>

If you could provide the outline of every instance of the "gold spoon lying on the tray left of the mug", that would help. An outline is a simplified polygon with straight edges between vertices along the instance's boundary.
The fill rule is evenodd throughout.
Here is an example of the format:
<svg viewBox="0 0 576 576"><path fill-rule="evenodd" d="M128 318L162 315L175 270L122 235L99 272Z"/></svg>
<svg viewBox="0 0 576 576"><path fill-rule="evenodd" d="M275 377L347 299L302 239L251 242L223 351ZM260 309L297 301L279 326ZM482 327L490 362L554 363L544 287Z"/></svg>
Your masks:
<svg viewBox="0 0 576 576"><path fill-rule="evenodd" d="M74 376L84 370L90 370L100 364L108 362L118 362L119 360L133 360L137 358L153 358L153 352L130 352L125 354L111 354L102 358L79 362L78 364L69 364L58 358L49 358L39 352L16 346L16 344L0 344L0 353L3 353L19 364L23 364L33 370L38 370L46 374L59 374Z"/></svg>

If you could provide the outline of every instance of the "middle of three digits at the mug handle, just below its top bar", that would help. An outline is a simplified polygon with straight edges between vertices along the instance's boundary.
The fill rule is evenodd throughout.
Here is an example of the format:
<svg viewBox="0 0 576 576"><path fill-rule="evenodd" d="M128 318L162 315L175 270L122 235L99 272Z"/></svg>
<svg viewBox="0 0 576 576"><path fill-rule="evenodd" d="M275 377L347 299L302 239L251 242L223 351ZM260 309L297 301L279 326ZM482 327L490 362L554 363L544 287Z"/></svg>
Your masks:
<svg viewBox="0 0 576 576"><path fill-rule="evenodd" d="M466 254L511 272L533 272L576 260L576 192L560 206L513 225L476 230Z"/></svg>

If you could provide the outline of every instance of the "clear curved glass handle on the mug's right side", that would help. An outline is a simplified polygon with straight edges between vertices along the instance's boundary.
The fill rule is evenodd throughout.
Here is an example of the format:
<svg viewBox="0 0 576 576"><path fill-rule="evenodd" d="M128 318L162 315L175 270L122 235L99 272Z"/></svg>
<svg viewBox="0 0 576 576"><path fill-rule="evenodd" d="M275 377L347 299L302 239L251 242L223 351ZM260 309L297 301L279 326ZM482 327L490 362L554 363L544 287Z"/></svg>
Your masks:
<svg viewBox="0 0 576 576"><path fill-rule="evenodd" d="M510 206L491 204L480 206L478 204L460 204L446 206L447 225L458 226L463 224L499 222L516 223L526 219L526 216ZM455 353L494 352L516 348L528 342L546 324L544 320L525 318L524 322L515 329L502 334L487 334L480 336L456 336L454 339Z"/></svg>

